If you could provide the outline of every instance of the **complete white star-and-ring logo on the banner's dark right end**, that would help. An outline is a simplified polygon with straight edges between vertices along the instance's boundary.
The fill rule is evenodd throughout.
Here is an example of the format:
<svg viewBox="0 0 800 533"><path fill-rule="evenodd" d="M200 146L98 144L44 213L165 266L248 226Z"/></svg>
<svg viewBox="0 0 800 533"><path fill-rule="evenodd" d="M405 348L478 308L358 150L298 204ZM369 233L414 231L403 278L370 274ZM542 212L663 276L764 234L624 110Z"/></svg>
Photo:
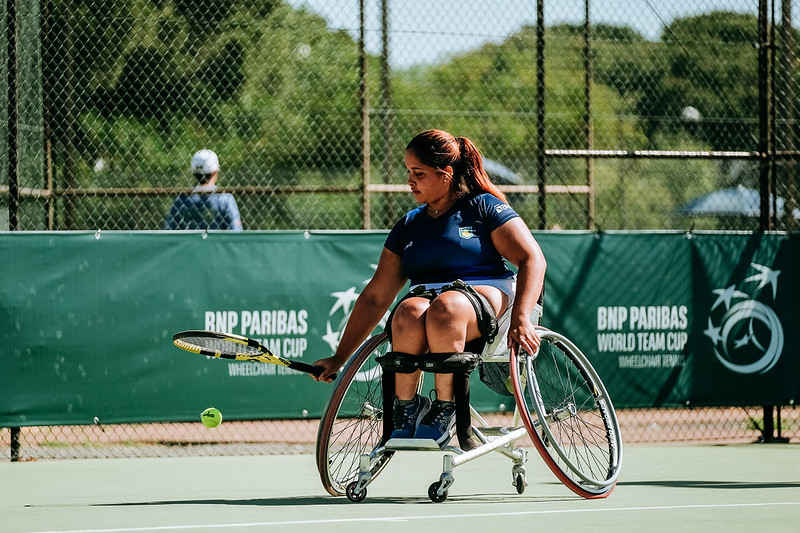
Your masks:
<svg viewBox="0 0 800 533"><path fill-rule="evenodd" d="M764 374L780 359L783 326L775 311L756 298L762 289L770 287L775 301L781 271L756 263L750 267L756 272L741 286L734 284L712 291L717 299L703 333L711 339L714 354L725 368L737 374ZM752 296L744 292L748 288L754 293Z"/></svg>

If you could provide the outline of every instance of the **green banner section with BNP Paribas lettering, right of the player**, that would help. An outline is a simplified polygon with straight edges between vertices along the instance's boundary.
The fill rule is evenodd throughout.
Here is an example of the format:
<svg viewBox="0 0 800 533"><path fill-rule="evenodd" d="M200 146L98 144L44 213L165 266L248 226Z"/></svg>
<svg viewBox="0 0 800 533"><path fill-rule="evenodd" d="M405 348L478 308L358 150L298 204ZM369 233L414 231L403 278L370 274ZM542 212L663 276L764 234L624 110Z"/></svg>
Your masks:
<svg viewBox="0 0 800 533"><path fill-rule="evenodd" d="M543 324L589 357L618 407L681 404L691 241L678 233L547 234Z"/></svg>

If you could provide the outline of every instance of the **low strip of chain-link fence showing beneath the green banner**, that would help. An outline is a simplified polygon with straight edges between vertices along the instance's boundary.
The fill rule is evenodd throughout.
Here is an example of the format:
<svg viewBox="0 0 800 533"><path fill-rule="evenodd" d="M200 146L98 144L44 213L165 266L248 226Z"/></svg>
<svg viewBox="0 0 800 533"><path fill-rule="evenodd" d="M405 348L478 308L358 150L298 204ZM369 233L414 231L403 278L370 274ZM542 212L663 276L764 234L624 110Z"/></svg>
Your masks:
<svg viewBox="0 0 800 533"><path fill-rule="evenodd" d="M637 443L788 442L800 437L796 406L778 410L777 431L764 437L764 412L754 407L622 409L623 441ZM489 423L509 426L510 413L485 414ZM314 453L319 420L223 422L215 429L197 423L46 426L0 429L3 459L181 457ZM520 446L532 447L529 437ZM0 459L0 460L3 460Z"/></svg>

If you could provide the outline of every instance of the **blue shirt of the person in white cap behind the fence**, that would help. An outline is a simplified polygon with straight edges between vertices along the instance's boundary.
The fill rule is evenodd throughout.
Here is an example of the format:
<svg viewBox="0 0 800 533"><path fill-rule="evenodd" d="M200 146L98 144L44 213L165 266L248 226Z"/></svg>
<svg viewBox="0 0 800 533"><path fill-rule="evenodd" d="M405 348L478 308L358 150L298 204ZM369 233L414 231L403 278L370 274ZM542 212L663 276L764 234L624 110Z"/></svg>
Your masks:
<svg viewBox="0 0 800 533"><path fill-rule="evenodd" d="M215 186L198 185L191 194L181 194L172 202L164 229L242 230L236 199L217 193Z"/></svg>

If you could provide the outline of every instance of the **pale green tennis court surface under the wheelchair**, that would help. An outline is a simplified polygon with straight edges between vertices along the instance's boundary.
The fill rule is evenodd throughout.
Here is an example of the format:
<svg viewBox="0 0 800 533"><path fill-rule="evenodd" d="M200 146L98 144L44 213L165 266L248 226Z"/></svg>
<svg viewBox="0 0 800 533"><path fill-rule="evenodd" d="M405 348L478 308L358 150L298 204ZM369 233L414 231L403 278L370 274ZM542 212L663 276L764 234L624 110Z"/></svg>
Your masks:
<svg viewBox="0 0 800 533"><path fill-rule="evenodd" d="M632 445L616 490L580 499L535 452L529 486L491 454L427 487L438 452L398 453L352 503L328 496L311 455L0 464L0 531L797 531L800 446Z"/></svg>

